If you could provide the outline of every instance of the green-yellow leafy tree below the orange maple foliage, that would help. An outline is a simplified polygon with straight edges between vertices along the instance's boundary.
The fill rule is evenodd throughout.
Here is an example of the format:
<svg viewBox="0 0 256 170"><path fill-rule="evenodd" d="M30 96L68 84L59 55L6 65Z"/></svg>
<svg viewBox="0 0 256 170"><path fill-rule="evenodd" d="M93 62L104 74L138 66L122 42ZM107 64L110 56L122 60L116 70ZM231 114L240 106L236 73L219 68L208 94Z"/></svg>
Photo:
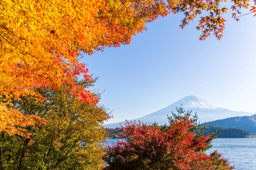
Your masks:
<svg viewBox="0 0 256 170"><path fill-rule="evenodd" d="M88 88L92 82L80 80L79 86ZM27 126L29 138L0 133L0 169L102 169L101 145L106 139L102 123L110 118L104 105L88 104L67 94L69 86L58 90L46 88L36 91L46 101L35 102L22 97L14 101L15 108L24 115L43 117L47 125ZM93 94L100 99L98 94Z"/></svg>

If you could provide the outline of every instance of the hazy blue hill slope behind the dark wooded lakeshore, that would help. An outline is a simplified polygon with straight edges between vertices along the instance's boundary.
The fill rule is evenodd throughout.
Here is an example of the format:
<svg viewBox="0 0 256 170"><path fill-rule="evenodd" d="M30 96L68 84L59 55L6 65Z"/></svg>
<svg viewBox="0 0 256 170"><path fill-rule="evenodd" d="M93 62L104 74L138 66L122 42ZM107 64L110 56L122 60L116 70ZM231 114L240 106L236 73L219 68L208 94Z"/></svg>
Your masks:
<svg viewBox="0 0 256 170"><path fill-rule="evenodd" d="M222 120L216 120L204 123L207 126L222 126L229 128L239 128L242 130L249 131L250 133L256 133L256 114L253 116L242 116L242 117L230 117Z"/></svg>

